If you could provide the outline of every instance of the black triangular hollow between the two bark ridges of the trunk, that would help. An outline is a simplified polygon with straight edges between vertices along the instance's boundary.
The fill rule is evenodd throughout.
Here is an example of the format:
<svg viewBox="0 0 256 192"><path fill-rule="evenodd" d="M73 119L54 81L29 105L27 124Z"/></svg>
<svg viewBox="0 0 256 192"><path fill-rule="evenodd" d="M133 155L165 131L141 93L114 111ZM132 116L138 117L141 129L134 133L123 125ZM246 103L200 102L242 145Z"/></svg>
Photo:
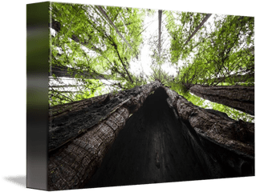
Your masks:
<svg viewBox="0 0 256 192"><path fill-rule="evenodd" d="M162 87L148 96L120 130L102 164L83 189L254 174L250 170L254 165L252 160L200 138L189 123L178 118L177 111L166 102L167 98Z"/></svg>

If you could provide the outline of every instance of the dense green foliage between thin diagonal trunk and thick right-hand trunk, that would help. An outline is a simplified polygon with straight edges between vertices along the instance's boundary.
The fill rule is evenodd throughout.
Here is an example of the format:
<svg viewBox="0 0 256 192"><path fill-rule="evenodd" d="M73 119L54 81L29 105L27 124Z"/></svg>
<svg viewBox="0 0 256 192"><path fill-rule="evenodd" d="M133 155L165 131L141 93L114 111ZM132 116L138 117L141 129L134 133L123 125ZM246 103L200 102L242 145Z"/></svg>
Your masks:
<svg viewBox="0 0 256 192"><path fill-rule="evenodd" d="M220 82L236 82L244 76L244 82L254 82L254 54L251 50L252 34L249 27L253 17L228 15L216 31L201 38L193 61L182 66L177 77L183 83L216 86ZM247 42L250 39L250 46ZM246 75L246 76L245 76ZM234 77L234 78L233 78Z"/></svg>

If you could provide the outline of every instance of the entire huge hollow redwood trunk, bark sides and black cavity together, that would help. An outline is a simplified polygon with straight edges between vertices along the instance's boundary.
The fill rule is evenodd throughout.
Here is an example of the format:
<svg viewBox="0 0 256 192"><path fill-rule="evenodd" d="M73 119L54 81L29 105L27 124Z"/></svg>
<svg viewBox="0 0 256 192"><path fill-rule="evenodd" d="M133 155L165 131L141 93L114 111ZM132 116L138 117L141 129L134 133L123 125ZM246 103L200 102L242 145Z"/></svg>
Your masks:
<svg viewBox="0 0 256 192"><path fill-rule="evenodd" d="M160 86L52 107L49 190L255 175L254 123L194 106Z"/></svg>

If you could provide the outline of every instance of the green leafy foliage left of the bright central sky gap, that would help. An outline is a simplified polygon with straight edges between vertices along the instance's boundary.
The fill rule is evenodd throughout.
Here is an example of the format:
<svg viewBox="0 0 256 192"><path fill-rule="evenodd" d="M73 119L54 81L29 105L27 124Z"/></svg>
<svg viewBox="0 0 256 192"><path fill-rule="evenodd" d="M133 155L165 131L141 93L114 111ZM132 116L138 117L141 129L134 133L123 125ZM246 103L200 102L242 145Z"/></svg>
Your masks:
<svg viewBox="0 0 256 192"><path fill-rule="evenodd" d="M61 93L49 86L51 105L90 98L95 92L99 94L99 88L106 85L89 77L108 77L112 82L118 79L120 83L112 83L116 89L130 88L143 82L130 74L128 69L130 60L140 52L145 11L115 6L103 9L132 49L97 6L51 2L51 28L57 31L51 37L51 67L69 67L68 74L74 76L75 85L83 84L83 90L77 94L72 91ZM52 72L55 73L49 71ZM61 82L61 79L58 81ZM66 83L67 86L69 84Z"/></svg>

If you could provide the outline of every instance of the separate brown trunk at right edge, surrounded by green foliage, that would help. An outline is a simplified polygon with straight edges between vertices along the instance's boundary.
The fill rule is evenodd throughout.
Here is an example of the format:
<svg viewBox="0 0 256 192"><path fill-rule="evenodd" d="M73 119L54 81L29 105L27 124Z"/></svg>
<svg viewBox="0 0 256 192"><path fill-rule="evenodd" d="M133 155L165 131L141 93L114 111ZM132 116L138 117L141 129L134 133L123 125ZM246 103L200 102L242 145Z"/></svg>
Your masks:
<svg viewBox="0 0 256 192"><path fill-rule="evenodd" d="M190 92L211 102L221 103L236 110L255 115L254 86L200 86L190 87Z"/></svg>

